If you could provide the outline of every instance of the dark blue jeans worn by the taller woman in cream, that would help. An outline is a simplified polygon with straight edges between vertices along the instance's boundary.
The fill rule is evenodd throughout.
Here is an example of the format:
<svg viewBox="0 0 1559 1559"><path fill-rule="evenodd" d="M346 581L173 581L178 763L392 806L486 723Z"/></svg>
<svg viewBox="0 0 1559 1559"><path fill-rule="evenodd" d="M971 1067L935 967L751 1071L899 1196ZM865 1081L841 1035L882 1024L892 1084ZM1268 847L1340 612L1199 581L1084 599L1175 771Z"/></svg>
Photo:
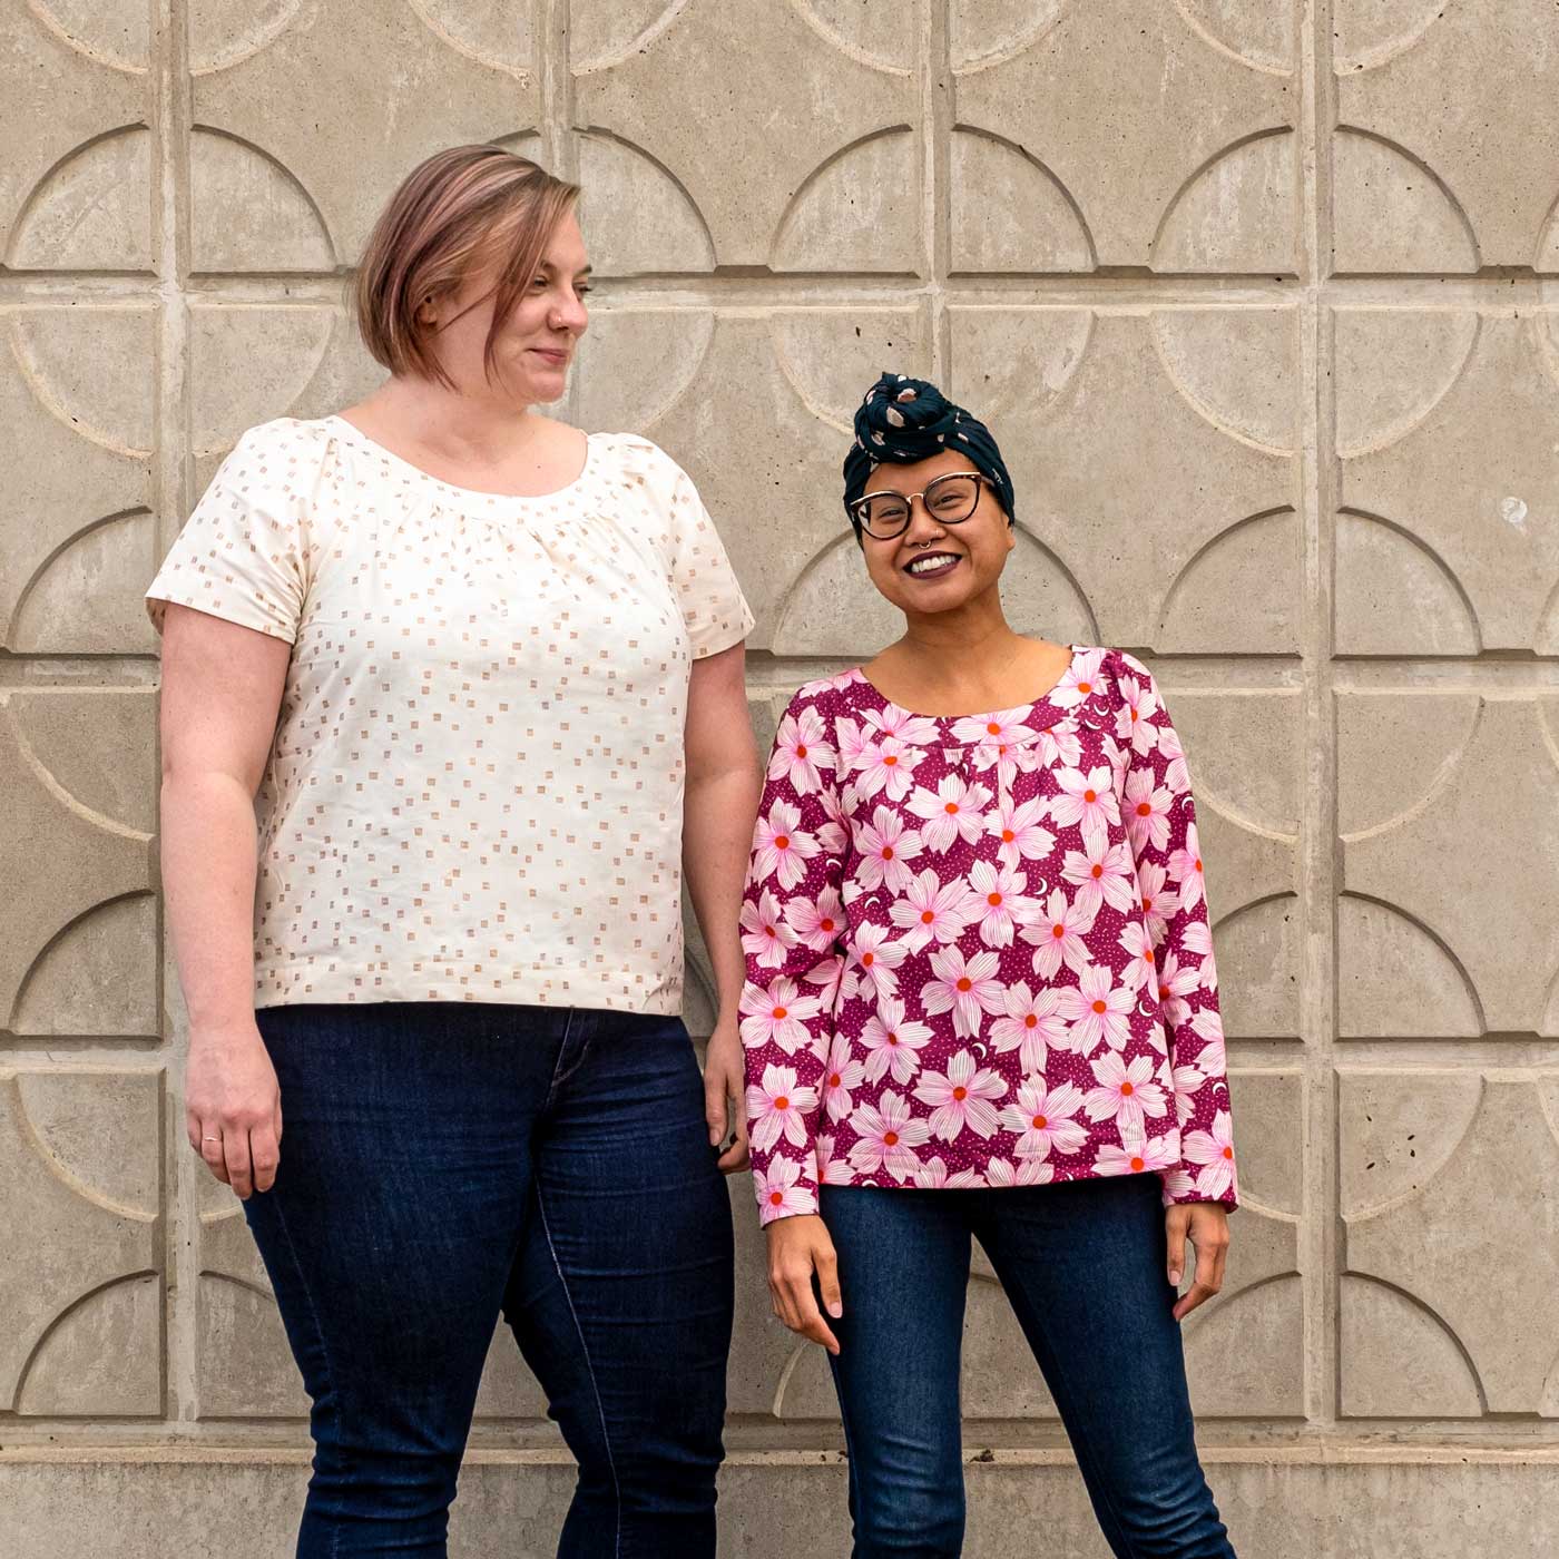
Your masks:
<svg viewBox="0 0 1559 1559"><path fill-rule="evenodd" d="M444 1554L499 1313L578 1461L569 1559L714 1554L731 1210L677 1018L270 1007L246 1204L304 1384L301 1559Z"/></svg>

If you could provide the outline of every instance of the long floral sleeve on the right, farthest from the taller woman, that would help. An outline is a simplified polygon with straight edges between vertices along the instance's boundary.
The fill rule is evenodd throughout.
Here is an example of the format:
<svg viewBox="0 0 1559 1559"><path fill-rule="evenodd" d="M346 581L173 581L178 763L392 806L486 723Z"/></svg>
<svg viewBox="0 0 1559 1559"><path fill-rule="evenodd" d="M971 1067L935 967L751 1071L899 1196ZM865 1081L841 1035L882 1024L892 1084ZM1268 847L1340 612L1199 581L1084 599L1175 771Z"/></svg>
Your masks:
<svg viewBox="0 0 1559 1559"><path fill-rule="evenodd" d="M1165 1205L1222 1202L1233 1210L1238 1177L1224 1026L1191 776L1152 673L1130 655L1119 659L1121 812L1152 939L1180 1121L1180 1161L1160 1171Z"/></svg>

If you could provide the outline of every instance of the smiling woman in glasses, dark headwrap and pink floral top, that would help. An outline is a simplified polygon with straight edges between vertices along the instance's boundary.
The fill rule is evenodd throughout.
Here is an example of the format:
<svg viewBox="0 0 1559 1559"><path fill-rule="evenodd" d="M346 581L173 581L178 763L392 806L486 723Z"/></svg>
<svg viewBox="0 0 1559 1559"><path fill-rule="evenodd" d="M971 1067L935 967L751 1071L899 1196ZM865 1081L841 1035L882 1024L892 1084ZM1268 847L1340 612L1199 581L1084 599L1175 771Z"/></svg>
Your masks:
<svg viewBox="0 0 1559 1559"><path fill-rule="evenodd" d="M854 1553L960 1551L973 1235L1112 1550L1228 1556L1179 1330L1236 1202L1179 737L1130 655L1007 625L1012 480L970 413L884 374L843 475L904 636L781 722L742 1040L775 1313L829 1352Z"/></svg>

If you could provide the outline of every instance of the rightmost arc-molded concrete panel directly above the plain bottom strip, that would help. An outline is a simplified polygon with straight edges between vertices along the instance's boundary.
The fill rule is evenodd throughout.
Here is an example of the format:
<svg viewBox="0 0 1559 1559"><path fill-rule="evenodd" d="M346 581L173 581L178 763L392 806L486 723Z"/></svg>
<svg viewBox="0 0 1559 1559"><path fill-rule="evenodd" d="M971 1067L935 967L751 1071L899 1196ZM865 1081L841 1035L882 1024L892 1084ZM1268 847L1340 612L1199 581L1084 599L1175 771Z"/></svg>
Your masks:
<svg viewBox="0 0 1559 1559"><path fill-rule="evenodd" d="M1469 1087L1470 1082L1470 1087ZM1481 1080L1417 1068L1345 1073L1344 1207L1350 1275L1409 1302L1381 1303L1355 1286L1344 1311L1342 1364L1353 1411L1559 1414L1553 1386L1559 1317L1559 1076L1490 1071ZM1409 1133L1408 1126L1414 1130ZM1363 1158L1363 1166L1358 1160ZM1494 1210L1520 1208L1520 1221ZM1490 1274L1498 1281L1490 1281ZM1389 1373L1403 1316L1431 1339L1422 1378ZM1380 1350L1377 1335L1398 1341ZM1436 1328L1448 1335L1434 1339ZM1473 1403L1475 1398L1475 1403Z"/></svg>

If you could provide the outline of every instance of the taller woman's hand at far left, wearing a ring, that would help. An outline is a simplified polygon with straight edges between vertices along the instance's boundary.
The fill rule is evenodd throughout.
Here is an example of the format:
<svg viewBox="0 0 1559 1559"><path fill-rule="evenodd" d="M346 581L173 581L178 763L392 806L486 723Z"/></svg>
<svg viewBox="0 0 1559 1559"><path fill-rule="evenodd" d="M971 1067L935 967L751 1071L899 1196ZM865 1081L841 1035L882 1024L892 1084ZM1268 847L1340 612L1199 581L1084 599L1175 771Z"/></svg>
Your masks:
<svg viewBox="0 0 1559 1559"><path fill-rule="evenodd" d="M282 1149L276 1068L251 1018L232 1029L190 1034L184 1129L206 1168L240 1199L270 1191Z"/></svg>

